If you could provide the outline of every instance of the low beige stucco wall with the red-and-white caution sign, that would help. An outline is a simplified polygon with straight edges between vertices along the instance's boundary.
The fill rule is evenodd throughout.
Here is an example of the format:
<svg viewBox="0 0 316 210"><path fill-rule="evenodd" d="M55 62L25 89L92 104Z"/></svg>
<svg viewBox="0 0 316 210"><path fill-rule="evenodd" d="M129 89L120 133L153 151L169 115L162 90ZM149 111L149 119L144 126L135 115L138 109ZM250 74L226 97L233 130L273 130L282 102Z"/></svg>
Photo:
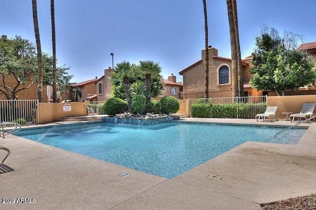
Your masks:
<svg viewBox="0 0 316 210"><path fill-rule="evenodd" d="M71 103L71 111L63 111L63 103L39 103L39 124L60 121L65 117L85 116L85 103Z"/></svg>

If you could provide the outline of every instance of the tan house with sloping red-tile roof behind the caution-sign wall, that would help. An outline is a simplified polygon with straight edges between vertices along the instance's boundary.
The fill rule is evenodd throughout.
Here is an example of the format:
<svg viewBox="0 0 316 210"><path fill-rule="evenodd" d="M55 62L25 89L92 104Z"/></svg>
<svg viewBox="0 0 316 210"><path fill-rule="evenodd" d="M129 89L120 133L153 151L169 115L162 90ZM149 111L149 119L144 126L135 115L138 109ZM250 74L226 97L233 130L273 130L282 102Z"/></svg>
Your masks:
<svg viewBox="0 0 316 210"><path fill-rule="evenodd" d="M77 84L71 85L72 89L78 88L81 94L81 97L78 97L78 101L97 101L97 95L96 92L96 84L95 81L97 81L98 78L95 77L95 79L90 79L87 81L79 82Z"/></svg>

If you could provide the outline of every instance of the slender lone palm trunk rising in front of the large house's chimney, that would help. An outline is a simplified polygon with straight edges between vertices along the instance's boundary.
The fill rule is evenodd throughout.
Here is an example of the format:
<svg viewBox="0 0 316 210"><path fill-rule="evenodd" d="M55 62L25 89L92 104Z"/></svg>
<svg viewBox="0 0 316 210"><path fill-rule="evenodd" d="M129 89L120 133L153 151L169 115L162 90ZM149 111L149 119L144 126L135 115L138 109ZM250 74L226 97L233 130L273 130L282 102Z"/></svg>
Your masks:
<svg viewBox="0 0 316 210"><path fill-rule="evenodd" d="M208 98L208 24L207 24L206 0L202 0L202 1L203 1L203 9L204 9L204 32L205 32L205 63L204 63L205 90L204 90L204 98Z"/></svg>

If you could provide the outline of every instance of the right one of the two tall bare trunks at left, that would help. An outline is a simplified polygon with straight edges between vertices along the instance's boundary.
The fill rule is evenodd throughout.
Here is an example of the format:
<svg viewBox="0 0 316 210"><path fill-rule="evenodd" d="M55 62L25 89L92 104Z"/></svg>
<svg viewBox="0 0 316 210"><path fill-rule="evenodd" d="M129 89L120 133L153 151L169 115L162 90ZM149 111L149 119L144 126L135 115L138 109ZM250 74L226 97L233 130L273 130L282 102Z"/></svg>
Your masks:
<svg viewBox="0 0 316 210"><path fill-rule="evenodd" d="M51 38L53 48L53 103L57 103L57 87L56 87L56 31L55 31L55 8L54 0L50 0L50 16L51 16Z"/></svg>

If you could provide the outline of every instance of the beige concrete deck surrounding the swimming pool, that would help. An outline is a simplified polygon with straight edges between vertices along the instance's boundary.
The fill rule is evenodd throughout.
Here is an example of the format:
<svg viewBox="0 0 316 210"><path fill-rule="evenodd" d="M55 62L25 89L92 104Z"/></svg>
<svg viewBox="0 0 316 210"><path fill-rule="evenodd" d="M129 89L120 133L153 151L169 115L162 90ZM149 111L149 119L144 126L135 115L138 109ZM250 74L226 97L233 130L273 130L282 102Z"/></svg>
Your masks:
<svg viewBox="0 0 316 210"><path fill-rule="evenodd" d="M179 121L293 125L254 119ZM9 172L0 174L0 209L260 210L261 203L316 193L316 123L300 126L309 128L296 145L247 141L173 179L9 135L0 139L11 149L2 166ZM120 177L123 173L129 175ZM209 179L215 175L223 179ZM2 204L5 198L36 203Z"/></svg>

